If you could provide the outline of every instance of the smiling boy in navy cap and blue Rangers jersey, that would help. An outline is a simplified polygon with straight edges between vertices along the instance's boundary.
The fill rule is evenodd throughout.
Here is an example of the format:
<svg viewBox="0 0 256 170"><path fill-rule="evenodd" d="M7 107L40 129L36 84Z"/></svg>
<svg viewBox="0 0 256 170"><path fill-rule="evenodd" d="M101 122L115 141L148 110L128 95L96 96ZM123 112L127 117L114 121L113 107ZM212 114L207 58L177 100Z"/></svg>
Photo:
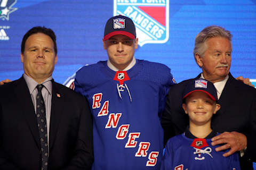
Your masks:
<svg viewBox="0 0 256 170"><path fill-rule="evenodd" d="M240 169L238 154L223 157L216 152L211 138L218 135L211 129L211 118L219 109L217 90L205 79L191 80L183 91L182 108L189 116L185 133L169 139L161 169Z"/></svg>

